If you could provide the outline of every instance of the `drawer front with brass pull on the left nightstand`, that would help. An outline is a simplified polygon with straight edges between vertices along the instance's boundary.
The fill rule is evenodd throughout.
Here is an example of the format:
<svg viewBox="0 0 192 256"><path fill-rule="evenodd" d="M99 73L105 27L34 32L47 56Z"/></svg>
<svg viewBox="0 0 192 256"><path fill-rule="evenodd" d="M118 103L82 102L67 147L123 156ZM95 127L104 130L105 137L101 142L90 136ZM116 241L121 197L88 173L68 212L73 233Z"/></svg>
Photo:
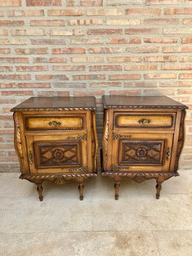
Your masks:
<svg viewBox="0 0 192 256"><path fill-rule="evenodd" d="M82 130L85 127L85 114L77 115L24 115L26 131Z"/></svg>

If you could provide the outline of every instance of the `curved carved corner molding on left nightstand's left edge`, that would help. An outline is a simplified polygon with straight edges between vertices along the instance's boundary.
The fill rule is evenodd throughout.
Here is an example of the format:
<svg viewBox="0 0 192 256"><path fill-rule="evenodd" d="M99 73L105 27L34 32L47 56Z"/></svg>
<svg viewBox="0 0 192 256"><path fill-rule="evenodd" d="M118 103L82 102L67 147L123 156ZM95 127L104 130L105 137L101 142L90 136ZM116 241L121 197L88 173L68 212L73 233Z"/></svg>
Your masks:
<svg viewBox="0 0 192 256"><path fill-rule="evenodd" d="M20 131L19 131L19 120L18 120L17 112L13 113L13 119L14 119L14 125L15 125L15 138L14 138L15 151L19 158L20 170L23 173L24 159L23 159L23 153L22 153L22 145L21 145Z"/></svg>

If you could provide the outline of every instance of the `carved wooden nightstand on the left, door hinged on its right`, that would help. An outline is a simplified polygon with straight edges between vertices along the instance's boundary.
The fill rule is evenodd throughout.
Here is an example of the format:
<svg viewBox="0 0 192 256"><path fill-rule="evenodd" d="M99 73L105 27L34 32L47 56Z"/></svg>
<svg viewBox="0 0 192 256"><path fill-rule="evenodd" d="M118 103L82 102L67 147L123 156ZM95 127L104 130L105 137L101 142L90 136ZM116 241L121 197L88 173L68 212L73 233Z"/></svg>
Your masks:
<svg viewBox="0 0 192 256"><path fill-rule="evenodd" d="M97 176L95 97L31 97L15 108L15 150L20 179L34 182L76 180L83 200L84 180Z"/></svg>

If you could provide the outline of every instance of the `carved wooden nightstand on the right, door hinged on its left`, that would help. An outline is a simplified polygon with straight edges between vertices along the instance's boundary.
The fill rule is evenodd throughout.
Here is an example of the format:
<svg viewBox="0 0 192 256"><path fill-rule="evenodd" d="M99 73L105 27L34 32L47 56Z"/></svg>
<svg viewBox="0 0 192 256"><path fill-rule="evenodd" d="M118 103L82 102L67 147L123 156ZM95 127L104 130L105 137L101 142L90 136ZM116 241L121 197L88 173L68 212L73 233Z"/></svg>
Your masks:
<svg viewBox="0 0 192 256"><path fill-rule="evenodd" d="M115 180L115 199L124 178L156 179L159 199L164 180L179 176L188 107L166 96L103 96L102 102L102 175Z"/></svg>

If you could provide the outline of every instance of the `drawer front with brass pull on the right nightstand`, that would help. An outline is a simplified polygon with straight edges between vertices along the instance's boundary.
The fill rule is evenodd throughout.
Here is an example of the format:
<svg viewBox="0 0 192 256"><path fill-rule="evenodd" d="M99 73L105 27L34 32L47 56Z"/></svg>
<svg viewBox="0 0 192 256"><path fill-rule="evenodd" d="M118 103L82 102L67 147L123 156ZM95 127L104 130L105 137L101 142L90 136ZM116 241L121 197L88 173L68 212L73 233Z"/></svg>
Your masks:
<svg viewBox="0 0 192 256"><path fill-rule="evenodd" d="M113 129L170 129L175 127L176 113L114 113Z"/></svg>

